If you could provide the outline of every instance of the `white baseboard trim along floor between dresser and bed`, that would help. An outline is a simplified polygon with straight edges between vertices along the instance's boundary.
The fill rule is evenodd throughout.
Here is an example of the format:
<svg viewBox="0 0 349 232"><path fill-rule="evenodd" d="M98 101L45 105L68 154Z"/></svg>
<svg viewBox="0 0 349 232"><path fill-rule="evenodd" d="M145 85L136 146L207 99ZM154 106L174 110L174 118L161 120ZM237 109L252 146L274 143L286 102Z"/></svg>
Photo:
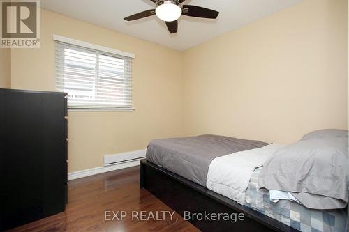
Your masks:
<svg viewBox="0 0 349 232"><path fill-rule="evenodd" d="M96 167L93 169L75 171L75 172L68 173L68 180L75 180L75 179L83 178L87 176L94 176L96 174L105 173L108 171L114 171L118 169L126 169L128 167L134 167L138 165L140 165L140 160L132 160L127 162L120 162L118 164L105 166L105 167Z"/></svg>

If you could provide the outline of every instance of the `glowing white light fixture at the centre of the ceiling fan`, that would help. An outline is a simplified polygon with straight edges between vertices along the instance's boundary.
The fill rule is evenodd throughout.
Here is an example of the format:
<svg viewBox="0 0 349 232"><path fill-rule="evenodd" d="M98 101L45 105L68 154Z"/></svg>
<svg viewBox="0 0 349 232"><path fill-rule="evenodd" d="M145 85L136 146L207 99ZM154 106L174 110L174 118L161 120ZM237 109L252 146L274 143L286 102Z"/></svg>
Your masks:
<svg viewBox="0 0 349 232"><path fill-rule="evenodd" d="M156 16L165 22L173 22L181 17L181 4L178 1L158 1Z"/></svg>

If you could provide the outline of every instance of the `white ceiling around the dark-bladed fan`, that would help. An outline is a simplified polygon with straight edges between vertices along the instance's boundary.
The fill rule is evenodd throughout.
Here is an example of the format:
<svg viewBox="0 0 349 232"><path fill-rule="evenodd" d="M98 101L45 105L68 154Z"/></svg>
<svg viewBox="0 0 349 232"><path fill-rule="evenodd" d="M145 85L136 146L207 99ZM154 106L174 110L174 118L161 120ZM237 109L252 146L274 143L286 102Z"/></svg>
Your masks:
<svg viewBox="0 0 349 232"><path fill-rule="evenodd" d="M150 0L43 0L42 8L107 29L183 51L302 0L186 0L184 4L218 10L216 20L181 16L170 34L156 16L126 22L124 17L155 7Z"/></svg>

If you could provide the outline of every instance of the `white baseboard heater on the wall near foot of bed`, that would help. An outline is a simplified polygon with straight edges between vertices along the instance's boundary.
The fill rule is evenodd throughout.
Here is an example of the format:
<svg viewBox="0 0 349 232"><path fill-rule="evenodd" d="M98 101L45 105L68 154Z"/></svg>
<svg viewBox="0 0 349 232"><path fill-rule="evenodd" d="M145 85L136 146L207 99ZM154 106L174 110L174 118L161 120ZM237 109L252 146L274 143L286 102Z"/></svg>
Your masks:
<svg viewBox="0 0 349 232"><path fill-rule="evenodd" d="M104 166L120 164L124 162L131 162L135 160L142 160L145 158L146 150L135 150L127 153L119 153L114 155L104 156Z"/></svg>

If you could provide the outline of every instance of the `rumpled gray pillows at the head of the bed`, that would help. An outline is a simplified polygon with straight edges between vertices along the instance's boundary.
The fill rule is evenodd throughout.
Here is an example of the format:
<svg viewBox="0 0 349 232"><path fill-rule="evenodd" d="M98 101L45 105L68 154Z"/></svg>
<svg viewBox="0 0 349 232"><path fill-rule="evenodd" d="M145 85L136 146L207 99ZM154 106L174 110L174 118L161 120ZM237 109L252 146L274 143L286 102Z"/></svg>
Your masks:
<svg viewBox="0 0 349 232"><path fill-rule="evenodd" d="M348 138L309 139L281 148L265 162L258 186L299 193L294 196L308 208L345 208Z"/></svg>

